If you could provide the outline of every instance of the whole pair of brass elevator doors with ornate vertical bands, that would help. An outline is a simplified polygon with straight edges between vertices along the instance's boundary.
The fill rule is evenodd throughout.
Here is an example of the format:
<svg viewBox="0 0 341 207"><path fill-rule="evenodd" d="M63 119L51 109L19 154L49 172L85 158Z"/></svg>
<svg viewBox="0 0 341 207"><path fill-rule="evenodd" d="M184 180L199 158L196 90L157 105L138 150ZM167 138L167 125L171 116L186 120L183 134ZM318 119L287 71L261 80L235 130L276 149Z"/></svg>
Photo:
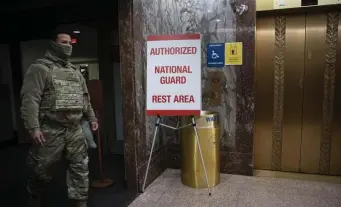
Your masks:
<svg viewBox="0 0 341 207"><path fill-rule="evenodd" d="M255 169L341 175L341 13L256 31Z"/></svg>

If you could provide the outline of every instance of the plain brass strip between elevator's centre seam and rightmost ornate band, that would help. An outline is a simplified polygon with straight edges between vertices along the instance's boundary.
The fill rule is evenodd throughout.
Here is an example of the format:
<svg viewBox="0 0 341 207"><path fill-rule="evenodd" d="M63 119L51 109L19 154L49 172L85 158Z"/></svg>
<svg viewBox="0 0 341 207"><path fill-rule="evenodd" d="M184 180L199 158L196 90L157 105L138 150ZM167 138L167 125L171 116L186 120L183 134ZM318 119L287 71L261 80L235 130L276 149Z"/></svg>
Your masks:
<svg viewBox="0 0 341 207"><path fill-rule="evenodd" d="M318 173L324 91L326 14L307 15L300 171Z"/></svg>

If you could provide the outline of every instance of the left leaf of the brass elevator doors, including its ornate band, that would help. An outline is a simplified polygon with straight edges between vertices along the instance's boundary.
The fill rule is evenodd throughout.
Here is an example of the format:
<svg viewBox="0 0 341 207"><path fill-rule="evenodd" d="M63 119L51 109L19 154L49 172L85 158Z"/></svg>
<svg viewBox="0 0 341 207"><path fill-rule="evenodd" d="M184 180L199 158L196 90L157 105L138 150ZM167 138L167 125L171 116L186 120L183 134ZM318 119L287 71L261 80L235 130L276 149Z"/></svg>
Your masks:
<svg viewBox="0 0 341 207"><path fill-rule="evenodd" d="M257 19L256 169L298 172L305 15Z"/></svg>

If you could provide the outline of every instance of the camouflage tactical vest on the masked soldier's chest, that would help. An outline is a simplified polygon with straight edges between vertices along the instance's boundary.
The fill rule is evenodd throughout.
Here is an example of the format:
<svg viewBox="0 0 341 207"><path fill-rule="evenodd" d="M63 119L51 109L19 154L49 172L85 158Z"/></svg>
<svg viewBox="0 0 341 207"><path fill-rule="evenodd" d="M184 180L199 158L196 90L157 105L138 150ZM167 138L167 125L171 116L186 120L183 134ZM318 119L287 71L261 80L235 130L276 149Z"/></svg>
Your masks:
<svg viewBox="0 0 341 207"><path fill-rule="evenodd" d="M48 81L41 97L40 109L49 111L82 111L84 90L81 74L73 68L60 68L53 62L40 59L37 64L49 68Z"/></svg>

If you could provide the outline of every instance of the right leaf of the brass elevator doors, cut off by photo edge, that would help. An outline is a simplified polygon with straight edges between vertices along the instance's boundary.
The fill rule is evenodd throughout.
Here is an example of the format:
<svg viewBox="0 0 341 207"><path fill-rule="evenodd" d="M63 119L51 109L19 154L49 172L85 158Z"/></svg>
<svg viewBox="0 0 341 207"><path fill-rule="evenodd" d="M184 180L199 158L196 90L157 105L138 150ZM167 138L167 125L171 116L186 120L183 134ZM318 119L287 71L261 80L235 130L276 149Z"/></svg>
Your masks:
<svg viewBox="0 0 341 207"><path fill-rule="evenodd" d="M300 172L340 175L340 13L307 15Z"/></svg>

